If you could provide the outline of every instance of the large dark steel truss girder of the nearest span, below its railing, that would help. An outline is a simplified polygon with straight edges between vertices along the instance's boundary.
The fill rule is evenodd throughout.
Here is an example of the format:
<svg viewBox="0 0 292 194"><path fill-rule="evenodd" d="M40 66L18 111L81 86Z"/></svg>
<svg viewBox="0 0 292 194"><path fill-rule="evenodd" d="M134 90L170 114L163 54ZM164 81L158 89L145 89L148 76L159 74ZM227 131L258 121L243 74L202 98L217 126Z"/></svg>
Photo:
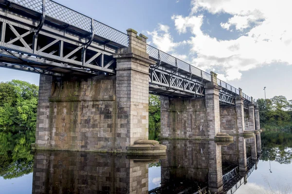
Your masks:
<svg viewBox="0 0 292 194"><path fill-rule="evenodd" d="M0 15L3 15L3 9L0 9ZM23 23L19 23L19 21L15 21L10 18L6 18L0 16L0 21L2 24L2 28L0 31L1 41L0 41L0 48L5 49L8 52L1 50L1 56L5 56L8 58L18 58L23 62L33 63L37 65L44 65L44 69L46 70L48 67L66 67L72 68L73 71L76 69L80 70L81 72L86 72L86 74L98 75L96 71L102 71L110 74L115 74L114 67L112 66L115 61L112 59L112 54L116 52L115 49L108 47L107 45L100 44L96 41L92 41L91 39L86 42L88 39L87 37L79 37L78 41L72 38L68 38L66 36L62 36L60 34L56 34L55 32L50 32L56 30L50 29L50 31L41 29L39 32L35 26L25 25ZM45 25L44 25L45 26ZM6 33L6 29L9 28L12 33ZM24 33L18 32L20 29ZM61 31L60 29L58 29ZM64 30L63 30L64 31ZM36 33L38 32L38 36ZM25 40L27 36L30 34L34 34L33 39L30 41ZM63 33L65 34L65 33ZM45 45L38 46L37 45L37 38L39 41L39 35L43 37L48 37L51 42L47 42ZM16 37L14 37L16 36ZM16 42L21 42L22 45L19 46L15 45ZM94 42L94 44L92 44ZM64 52L64 43L70 44L75 47L70 53L63 56ZM87 43L87 44L86 44ZM91 43L91 44L90 44ZM52 50L50 52L46 52L46 49L52 48L59 44L59 53L56 55L55 53L57 50ZM81 56L82 61L75 60L78 55L78 51L81 50L83 55ZM86 52L91 51L93 53L91 56L86 57ZM11 51L16 52L11 55ZM95 53L95 54L94 54ZM16 57L17 56L17 57ZM105 62L105 56L107 56L107 64ZM80 57L79 57L80 58ZM3 61L2 58L0 59L2 62L11 63L10 61ZM97 60L98 59L98 60ZM96 62L97 60L97 62ZM15 63L15 62L14 62ZM57 72L57 68L54 69ZM60 73L60 72L57 72ZM80 73L80 72L78 72Z"/></svg>

